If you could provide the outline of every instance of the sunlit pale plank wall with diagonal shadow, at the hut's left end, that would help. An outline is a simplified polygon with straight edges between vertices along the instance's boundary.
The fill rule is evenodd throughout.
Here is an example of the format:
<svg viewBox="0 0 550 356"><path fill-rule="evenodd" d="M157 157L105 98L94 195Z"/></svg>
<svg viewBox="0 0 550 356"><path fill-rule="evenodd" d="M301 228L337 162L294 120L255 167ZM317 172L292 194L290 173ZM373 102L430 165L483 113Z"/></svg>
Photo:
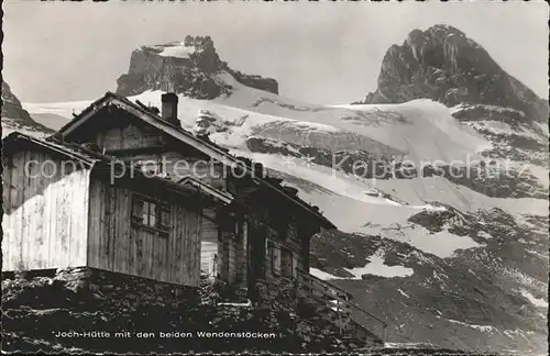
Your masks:
<svg viewBox="0 0 550 356"><path fill-rule="evenodd" d="M11 160L2 174L2 270L85 266L89 170L40 151Z"/></svg>

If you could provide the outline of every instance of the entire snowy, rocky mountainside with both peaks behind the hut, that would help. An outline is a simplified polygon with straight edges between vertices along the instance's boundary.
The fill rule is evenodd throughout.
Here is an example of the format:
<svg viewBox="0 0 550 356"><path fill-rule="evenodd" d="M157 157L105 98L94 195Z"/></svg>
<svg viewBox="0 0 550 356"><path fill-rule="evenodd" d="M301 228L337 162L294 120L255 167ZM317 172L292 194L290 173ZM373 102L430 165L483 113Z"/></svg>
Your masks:
<svg viewBox="0 0 550 356"><path fill-rule="evenodd" d="M253 88L217 55L185 59L195 51L134 52L120 92L160 107L176 90L185 129L320 207L340 231L314 238L312 272L386 319L388 343L546 352L546 101L449 26L393 46L376 92L351 105ZM25 108L69 119L89 102Z"/></svg>

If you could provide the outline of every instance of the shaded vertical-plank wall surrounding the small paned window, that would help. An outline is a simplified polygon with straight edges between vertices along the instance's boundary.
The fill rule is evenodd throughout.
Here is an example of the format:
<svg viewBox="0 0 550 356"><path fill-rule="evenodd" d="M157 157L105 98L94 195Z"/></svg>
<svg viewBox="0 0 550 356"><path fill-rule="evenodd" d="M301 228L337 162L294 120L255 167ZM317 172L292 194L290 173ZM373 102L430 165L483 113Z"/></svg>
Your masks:
<svg viewBox="0 0 550 356"><path fill-rule="evenodd" d="M200 278L201 215L170 203L168 235L132 225L132 192L91 181L89 266L197 287Z"/></svg>

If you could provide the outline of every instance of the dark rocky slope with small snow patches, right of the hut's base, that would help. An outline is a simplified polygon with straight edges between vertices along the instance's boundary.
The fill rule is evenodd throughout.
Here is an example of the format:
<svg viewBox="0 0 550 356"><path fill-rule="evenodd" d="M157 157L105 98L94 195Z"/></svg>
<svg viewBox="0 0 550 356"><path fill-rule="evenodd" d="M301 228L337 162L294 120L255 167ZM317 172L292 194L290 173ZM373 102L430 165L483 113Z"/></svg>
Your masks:
<svg viewBox="0 0 550 356"><path fill-rule="evenodd" d="M535 219L540 226L532 229L501 210L474 215L450 208L414 214L409 222L429 234L471 236L480 247L441 258L392 238L324 234L314 245L312 266L364 296L361 305L389 321L394 343L544 353L547 276L540 265L548 263L547 219Z"/></svg>

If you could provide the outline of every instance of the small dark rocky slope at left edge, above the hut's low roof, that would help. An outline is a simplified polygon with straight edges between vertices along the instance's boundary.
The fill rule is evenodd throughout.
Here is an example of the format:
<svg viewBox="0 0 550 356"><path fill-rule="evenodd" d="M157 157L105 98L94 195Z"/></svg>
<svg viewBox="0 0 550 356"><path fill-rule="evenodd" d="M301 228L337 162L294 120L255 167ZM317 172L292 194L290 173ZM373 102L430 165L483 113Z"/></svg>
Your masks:
<svg viewBox="0 0 550 356"><path fill-rule="evenodd" d="M13 130L38 136L53 132L52 129L31 118L29 112L21 107L21 101L13 94L10 86L2 80L2 137Z"/></svg>

